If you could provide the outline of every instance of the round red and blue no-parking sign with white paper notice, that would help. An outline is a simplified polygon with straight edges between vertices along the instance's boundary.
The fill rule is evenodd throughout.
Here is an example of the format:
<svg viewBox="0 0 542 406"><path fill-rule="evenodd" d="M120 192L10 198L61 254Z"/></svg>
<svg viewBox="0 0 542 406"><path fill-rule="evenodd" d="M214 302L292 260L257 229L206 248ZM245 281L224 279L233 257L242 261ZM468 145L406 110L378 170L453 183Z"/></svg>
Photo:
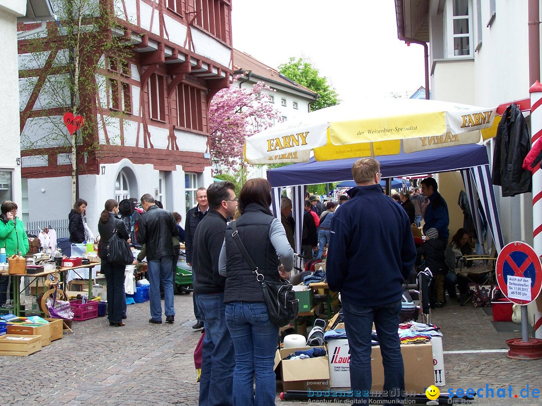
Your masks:
<svg viewBox="0 0 542 406"><path fill-rule="evenodd" d="M542 264L533 248L521 241L502 248L495 266L497 282L511 302L526 305L542 289Z"/></svg>

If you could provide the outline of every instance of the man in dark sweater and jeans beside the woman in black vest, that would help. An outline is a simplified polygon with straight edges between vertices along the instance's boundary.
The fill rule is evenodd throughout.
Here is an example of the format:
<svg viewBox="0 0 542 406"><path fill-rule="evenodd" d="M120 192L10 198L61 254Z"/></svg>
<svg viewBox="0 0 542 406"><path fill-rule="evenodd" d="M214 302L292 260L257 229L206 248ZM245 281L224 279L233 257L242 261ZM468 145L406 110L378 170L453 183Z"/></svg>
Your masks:
<svg viewBox="0 0 542 406"><path fill-rule="evenodd" d="M224 286L218 273L218 257L228 218L235 214L237 199L232 182L216 182L207 189L209 213L199 222L192 246L193 294L205 327L199 404L233 404L235 353L225 323ZM214 389L213 389L214 388Z"/></svg>

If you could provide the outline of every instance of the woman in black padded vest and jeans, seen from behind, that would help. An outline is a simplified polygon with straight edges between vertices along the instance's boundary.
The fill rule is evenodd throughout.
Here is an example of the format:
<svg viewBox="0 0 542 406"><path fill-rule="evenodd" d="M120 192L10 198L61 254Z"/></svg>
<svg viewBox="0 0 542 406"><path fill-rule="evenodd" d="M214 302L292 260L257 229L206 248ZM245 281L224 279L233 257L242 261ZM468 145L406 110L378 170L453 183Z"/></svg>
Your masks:
<svg viewBox="0 0 542 406"><path fill-rule="evenodd" d="M243 245L266 280L289 278L294 252L280 219L269 211L271 186L266 179L249 179L241 189L235 222ZM269 321L262 288L226 228L218 261L226 277L224 303L226 324L234 343L234 405L275 404L273 371L279 328ZM281 265L282 264L282 265ZM256 391L253 388L256 377Z"/></svg>

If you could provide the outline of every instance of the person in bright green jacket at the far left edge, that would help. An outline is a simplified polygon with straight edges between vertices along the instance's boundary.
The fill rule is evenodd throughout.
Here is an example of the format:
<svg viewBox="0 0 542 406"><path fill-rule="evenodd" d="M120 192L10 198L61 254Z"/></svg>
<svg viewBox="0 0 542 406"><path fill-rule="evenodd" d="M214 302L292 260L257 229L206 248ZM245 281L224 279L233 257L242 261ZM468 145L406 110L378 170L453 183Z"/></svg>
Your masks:
<svg viewBox="0 0 542 406"><path fill-rule="evenodd" d="M0 248L5 248L9 258L21 252L24 256L28 252L28 236L24 231L24 224L17 218L17 204L11 200L2 202L0 214ZM0 307L5 304L8 293L9 276L0 276Z"/></svg>

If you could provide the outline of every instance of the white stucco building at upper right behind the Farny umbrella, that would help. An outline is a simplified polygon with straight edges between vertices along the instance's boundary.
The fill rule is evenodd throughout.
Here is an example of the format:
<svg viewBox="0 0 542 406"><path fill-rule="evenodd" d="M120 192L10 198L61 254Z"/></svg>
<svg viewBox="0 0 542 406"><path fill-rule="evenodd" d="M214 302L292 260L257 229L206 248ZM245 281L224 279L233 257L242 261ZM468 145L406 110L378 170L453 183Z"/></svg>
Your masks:
<svg viewBox="0 0 542 406"><path fill-rule="evenodd" d="M429 44L431 99L496 107L529 97L527 1L401 0L396 11L399 39ZM502 198L495 186L495 197L505 243L533 244L531 193Z"/></svg>

